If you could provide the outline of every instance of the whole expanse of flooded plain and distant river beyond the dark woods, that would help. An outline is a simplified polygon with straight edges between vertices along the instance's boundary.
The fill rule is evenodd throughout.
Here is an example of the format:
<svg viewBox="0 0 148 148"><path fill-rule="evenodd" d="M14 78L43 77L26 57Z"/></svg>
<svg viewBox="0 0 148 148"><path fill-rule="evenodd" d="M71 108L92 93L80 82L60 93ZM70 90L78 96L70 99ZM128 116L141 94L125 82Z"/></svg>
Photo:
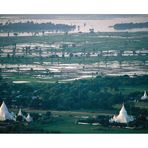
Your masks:
<svg viewBox="0 0 148 148"><path fill-rule="evenodd" d="M117 23L142 23L147 20L148 15L43 15L39 17L37 15L29 17L27 15L1 15L0 23L3 24L32 21L34 23L52 22L76 25L74 30L68 32L73 38L71 41L67 41L64 36L59 38L59 41L23 41L9 46L1 46L0 69L2 75L13 78L13 83L29 83L30 79L67 82L98 75L148 74L148 50L147 45L144 47L142 44L148 34L138 34L139 36L99 34L99 32L120 32L121 30L118 31L112 27ZM90 29L98 34L91 35ZM148 31L148 28L122 31L128 34L128 32ZM81 33L84 33L82 40ZM35 36L44 39L44 37L55 34L57 35L55 37L58 38L65 32L45 30L44 35L42 32L38 32ZM34 36L34 32L18 32L17 35L15 32L9 32L8 36L8 32L1 31L0 36L4 38L15 36L16 39L20 39L19 37L23 39L27 36ZM106 45L108 39L110 44L115 44L114 41L120 39L125 45L120 47L120 43L116 43L114 48L104 49L103 46ZM130 45L131 42L131 48L125 48L126 44ZM138 46L135 47L135 44ZM100 49L100 47L102 48ZM86 51L85 48L87 48Z"/></svg>

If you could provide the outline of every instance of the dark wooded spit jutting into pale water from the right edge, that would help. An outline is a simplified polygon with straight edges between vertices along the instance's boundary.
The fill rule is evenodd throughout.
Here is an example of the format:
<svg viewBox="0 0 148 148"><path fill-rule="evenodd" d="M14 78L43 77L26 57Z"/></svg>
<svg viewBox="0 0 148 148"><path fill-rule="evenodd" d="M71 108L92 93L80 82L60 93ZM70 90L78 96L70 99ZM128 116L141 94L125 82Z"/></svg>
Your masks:
<svg viewBox="0 0 148 148"><path fill-rule="evenodd" d="M144 23L121 23L121 24L115 24L113 27L116 30L148 28L148 22L144 22Z"/></svg>

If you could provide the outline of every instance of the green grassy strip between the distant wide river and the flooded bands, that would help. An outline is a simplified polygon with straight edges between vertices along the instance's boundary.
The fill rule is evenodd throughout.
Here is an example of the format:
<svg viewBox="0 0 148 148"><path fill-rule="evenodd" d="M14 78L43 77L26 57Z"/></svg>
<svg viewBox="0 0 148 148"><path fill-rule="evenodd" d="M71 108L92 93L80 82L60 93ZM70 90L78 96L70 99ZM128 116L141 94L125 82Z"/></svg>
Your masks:
<svg viewBox="0 0 148 148"><path fill-rule="evenodd" d="M106 37L108 36L108 37ZM147 47L147 37L148 32L135 32L135 33L104 33L103 35L100 33L89 34L89 33L82 33L82 34L51 34L49 36L26 36L26 37L0 37L0 45L12 45L14 43L53 43L53 42L91 42L98 44L101 48L115 48L115 47ZM136 39L136 40L135 40ZM137 41L138 40L138 41ZM126 43L126 44L125 44ZM127 46L128 43L128 46ZM96 44L92 46L96 46ZM120 45L120 46L117 46Z"/></svg>

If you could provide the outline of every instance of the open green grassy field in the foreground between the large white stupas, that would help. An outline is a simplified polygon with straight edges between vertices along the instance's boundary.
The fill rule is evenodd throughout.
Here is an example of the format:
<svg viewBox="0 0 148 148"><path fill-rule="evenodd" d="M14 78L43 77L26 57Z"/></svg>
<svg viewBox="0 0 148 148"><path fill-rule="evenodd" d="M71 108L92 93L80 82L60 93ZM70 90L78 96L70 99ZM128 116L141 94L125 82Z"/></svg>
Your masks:
<svg viewBox="0 0 148 148"><path fill-rule="evenodd" d="M148 129L126 129L119 127L104 127L101 125L78 125L76 120L81 115L104 115L104 113L60 112L54 111L57 117L49 123L32 123L31 128L43 130L45 133L148 133ZM55 113L55 114L54 114ZM77 116L76 116L77 115Z"/></svg>

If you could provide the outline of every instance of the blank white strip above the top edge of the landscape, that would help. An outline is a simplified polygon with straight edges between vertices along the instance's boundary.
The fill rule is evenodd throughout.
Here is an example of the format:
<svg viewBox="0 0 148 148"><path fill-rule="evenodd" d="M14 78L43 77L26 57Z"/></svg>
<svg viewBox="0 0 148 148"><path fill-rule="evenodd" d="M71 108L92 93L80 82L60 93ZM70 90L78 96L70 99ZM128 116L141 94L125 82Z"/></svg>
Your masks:
<svg viewBox="0 0 148 148"><path fill-rule="evenodd" d="M0 0L0 13L147 14L147 0Z"/></svg>

